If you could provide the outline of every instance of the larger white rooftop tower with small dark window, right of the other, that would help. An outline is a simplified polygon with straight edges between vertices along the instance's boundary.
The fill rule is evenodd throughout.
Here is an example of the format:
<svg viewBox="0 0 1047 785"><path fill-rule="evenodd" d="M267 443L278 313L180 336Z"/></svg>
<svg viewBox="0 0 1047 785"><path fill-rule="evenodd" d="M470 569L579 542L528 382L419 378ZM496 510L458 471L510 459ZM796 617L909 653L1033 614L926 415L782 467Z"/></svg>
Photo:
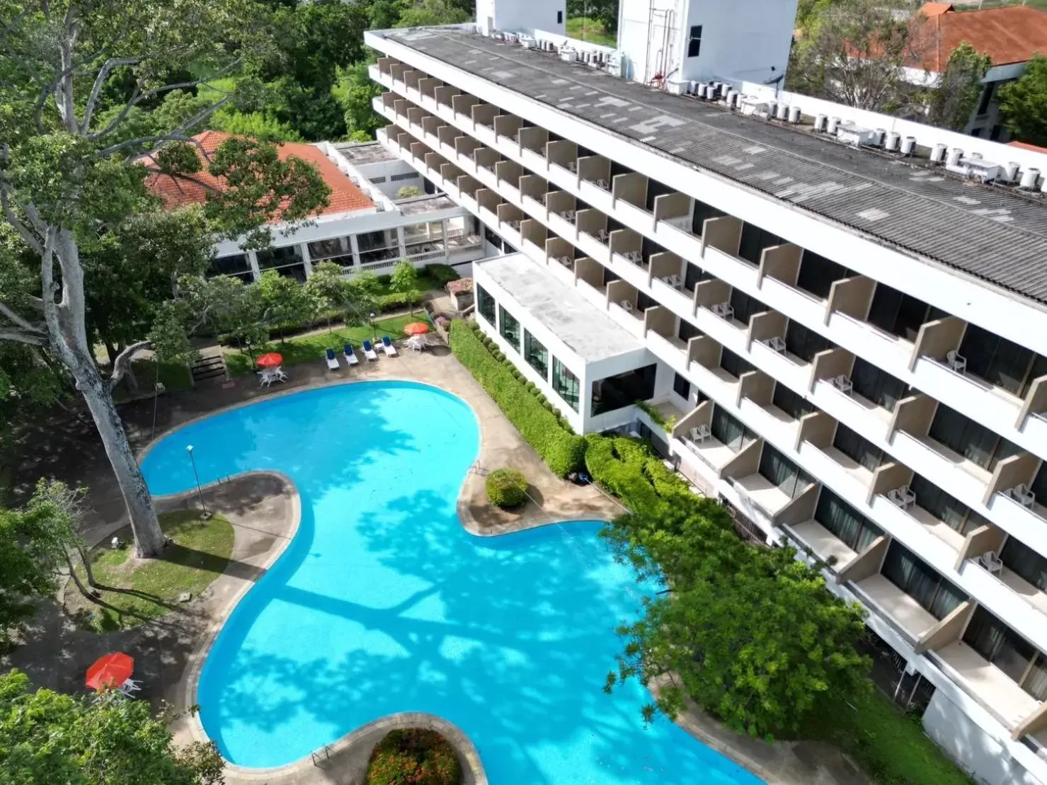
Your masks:
<svg viewBox="0 0 1047 785"><path fill-rule="evenodd" d="M774 84L788 64L796 5L797 0L621 0L618 48L637 82Z"/></svg>

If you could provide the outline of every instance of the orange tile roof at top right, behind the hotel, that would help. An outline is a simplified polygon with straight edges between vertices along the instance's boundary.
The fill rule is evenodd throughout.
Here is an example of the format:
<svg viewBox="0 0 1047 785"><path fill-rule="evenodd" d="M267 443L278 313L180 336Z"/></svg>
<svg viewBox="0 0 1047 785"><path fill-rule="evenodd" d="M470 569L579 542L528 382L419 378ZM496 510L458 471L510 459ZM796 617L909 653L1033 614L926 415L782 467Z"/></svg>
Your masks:
<svg viewBox="0 0 1047 785"><path fill-rule="evenodd" d="M1027 5L956 12L945 3L927 3L921 9L920 62L914 67L941 73L949 55L964 41L993 65L1024 63L1035 52L1047 54L1047 13Z"/></svg>

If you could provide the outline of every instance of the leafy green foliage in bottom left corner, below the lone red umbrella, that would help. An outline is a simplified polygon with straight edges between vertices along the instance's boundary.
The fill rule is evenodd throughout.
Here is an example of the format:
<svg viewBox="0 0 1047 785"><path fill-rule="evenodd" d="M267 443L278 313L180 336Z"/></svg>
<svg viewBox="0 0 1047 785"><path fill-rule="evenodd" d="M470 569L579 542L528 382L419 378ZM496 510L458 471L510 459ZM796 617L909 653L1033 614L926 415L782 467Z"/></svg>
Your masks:
<svg viewBox="0 0 1047 785"><path fill-rule="evenodd" d="M4 785L220 785L215 744L176 747L149 701L116 691L92 697L30 692L19 671L0 676Z"/></svg>

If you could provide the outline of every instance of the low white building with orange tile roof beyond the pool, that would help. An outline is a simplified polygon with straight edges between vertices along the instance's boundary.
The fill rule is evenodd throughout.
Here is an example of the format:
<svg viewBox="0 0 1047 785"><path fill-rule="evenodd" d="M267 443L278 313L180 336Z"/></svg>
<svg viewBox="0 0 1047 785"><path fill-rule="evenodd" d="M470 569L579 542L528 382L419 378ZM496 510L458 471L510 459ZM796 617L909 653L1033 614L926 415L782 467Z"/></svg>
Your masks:
<svg viewBox="0 0 1047 785"><path fill-rule="evenodd" d="M218 131L194 137L201 156L214 153L228 138L229 134ZM293 231L274 218L269 223L270 248L254 251L236 241L219 243L208 274L251 282L272 269L305 281L315 262L334 262L347 274L360 270L381 274L405 259L417 267L455 265L461 274L468 275L472 261L484 255L483 238L469 211L438 194L431 182L377 142L285 142L280 156L314 164L331 188L330 203L308 225ZM206 172L192 180L155 174L147 183L169 207L201 203L208 190L223 187L221 180ZM415 185L420 196L398 198L404 185Z"/></svg>

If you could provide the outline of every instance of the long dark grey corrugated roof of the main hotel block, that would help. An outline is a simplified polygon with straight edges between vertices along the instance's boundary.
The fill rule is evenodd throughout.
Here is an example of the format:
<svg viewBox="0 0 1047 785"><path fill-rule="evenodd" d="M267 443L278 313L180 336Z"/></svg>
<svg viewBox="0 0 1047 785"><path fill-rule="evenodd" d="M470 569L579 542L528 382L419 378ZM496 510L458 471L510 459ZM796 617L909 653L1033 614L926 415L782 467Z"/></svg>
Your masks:
<svg viewBox="0 0 1047 785"><path fill-rule="evenodd" d="M963 181L896 155L859 151L464 29L379 35L677 163L1047 304L1047 203L1039 198Z"/></svg>

